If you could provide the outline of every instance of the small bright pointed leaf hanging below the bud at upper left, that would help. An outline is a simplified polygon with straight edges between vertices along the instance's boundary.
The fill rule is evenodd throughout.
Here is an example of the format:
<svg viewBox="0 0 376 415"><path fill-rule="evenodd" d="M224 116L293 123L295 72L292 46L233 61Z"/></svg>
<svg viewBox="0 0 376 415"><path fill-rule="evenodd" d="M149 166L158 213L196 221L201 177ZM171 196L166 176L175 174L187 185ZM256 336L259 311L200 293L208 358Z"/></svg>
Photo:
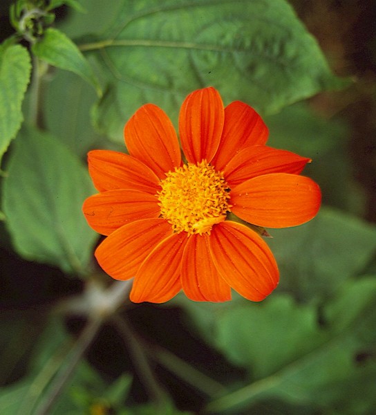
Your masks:
<svg viewBox="0 0 376 415"><path fill-rule="evenodd" d="M92 84L98 95L102 94L100 84L84 55L71 39L59 30L46 29L43 37L32 45L32 53L50 65L76 73Z"/></svg>

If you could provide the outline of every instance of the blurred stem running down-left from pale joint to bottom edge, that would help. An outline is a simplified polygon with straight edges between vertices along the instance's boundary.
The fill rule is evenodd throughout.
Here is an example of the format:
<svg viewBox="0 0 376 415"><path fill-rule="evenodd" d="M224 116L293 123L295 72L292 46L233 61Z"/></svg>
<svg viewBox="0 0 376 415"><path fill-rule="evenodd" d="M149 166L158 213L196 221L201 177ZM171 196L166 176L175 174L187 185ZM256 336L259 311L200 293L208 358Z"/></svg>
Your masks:
<svg viewBox="0 0 376 415"><path fill-rule="evenodd" d="M79 335L77 342L73 345L71 352L66 356L67 366L64 367L53 380L53 383L49 389L47 397L41 402L35 415L48 415L50 409L55 404L57 398L62 393L62 390L66 386L68 380L70 380L79 360L81 360L86 349L93 342L95 336L97 335L100 326L102 325L102 317L100 315L95 315L91 320L88 320L84 330Z"/></svg>

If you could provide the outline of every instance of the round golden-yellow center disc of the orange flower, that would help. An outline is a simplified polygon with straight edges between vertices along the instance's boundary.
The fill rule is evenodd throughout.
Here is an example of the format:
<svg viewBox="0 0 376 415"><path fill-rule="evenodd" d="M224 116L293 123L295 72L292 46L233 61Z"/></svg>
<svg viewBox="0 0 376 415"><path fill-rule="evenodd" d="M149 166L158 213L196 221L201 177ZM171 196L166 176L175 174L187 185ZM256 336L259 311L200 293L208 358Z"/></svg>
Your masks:
<svg viewBox="0 0 376 415"><path fill-rule="evenodd" d="M160 214L174 232L210 234L213 225L225 220L230 208L229 187L223 173L205 160L176 167L160 184Z"/></svg>

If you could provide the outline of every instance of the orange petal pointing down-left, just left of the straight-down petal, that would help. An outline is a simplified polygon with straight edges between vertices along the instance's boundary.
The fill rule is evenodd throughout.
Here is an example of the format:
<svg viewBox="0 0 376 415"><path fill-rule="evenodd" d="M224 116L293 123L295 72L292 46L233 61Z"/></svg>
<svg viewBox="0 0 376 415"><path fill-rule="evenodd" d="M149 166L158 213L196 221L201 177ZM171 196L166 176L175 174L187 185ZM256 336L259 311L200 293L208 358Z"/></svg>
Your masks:
<svg viewBox="0 0 376 415"><path fill-rule="evenodd" d="M162 303L178 294L182 288L180 265L187 241L186 232L172 234L151 251L135 275L131 301Z"/></svg>

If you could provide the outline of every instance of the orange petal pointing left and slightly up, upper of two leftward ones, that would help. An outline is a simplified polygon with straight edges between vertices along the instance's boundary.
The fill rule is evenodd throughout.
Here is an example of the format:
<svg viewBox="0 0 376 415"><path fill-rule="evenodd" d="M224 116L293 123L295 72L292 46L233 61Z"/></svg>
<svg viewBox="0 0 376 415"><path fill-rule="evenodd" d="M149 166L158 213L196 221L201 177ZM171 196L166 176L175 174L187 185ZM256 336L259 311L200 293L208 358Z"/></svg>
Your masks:
<svg viewBox="0 0 376 415"><path fill-rule="evenodd" d="M88 152L88 172L100 192L115 189L141 190L156 194L159 179L137 158L111 150Z"/></svg>

